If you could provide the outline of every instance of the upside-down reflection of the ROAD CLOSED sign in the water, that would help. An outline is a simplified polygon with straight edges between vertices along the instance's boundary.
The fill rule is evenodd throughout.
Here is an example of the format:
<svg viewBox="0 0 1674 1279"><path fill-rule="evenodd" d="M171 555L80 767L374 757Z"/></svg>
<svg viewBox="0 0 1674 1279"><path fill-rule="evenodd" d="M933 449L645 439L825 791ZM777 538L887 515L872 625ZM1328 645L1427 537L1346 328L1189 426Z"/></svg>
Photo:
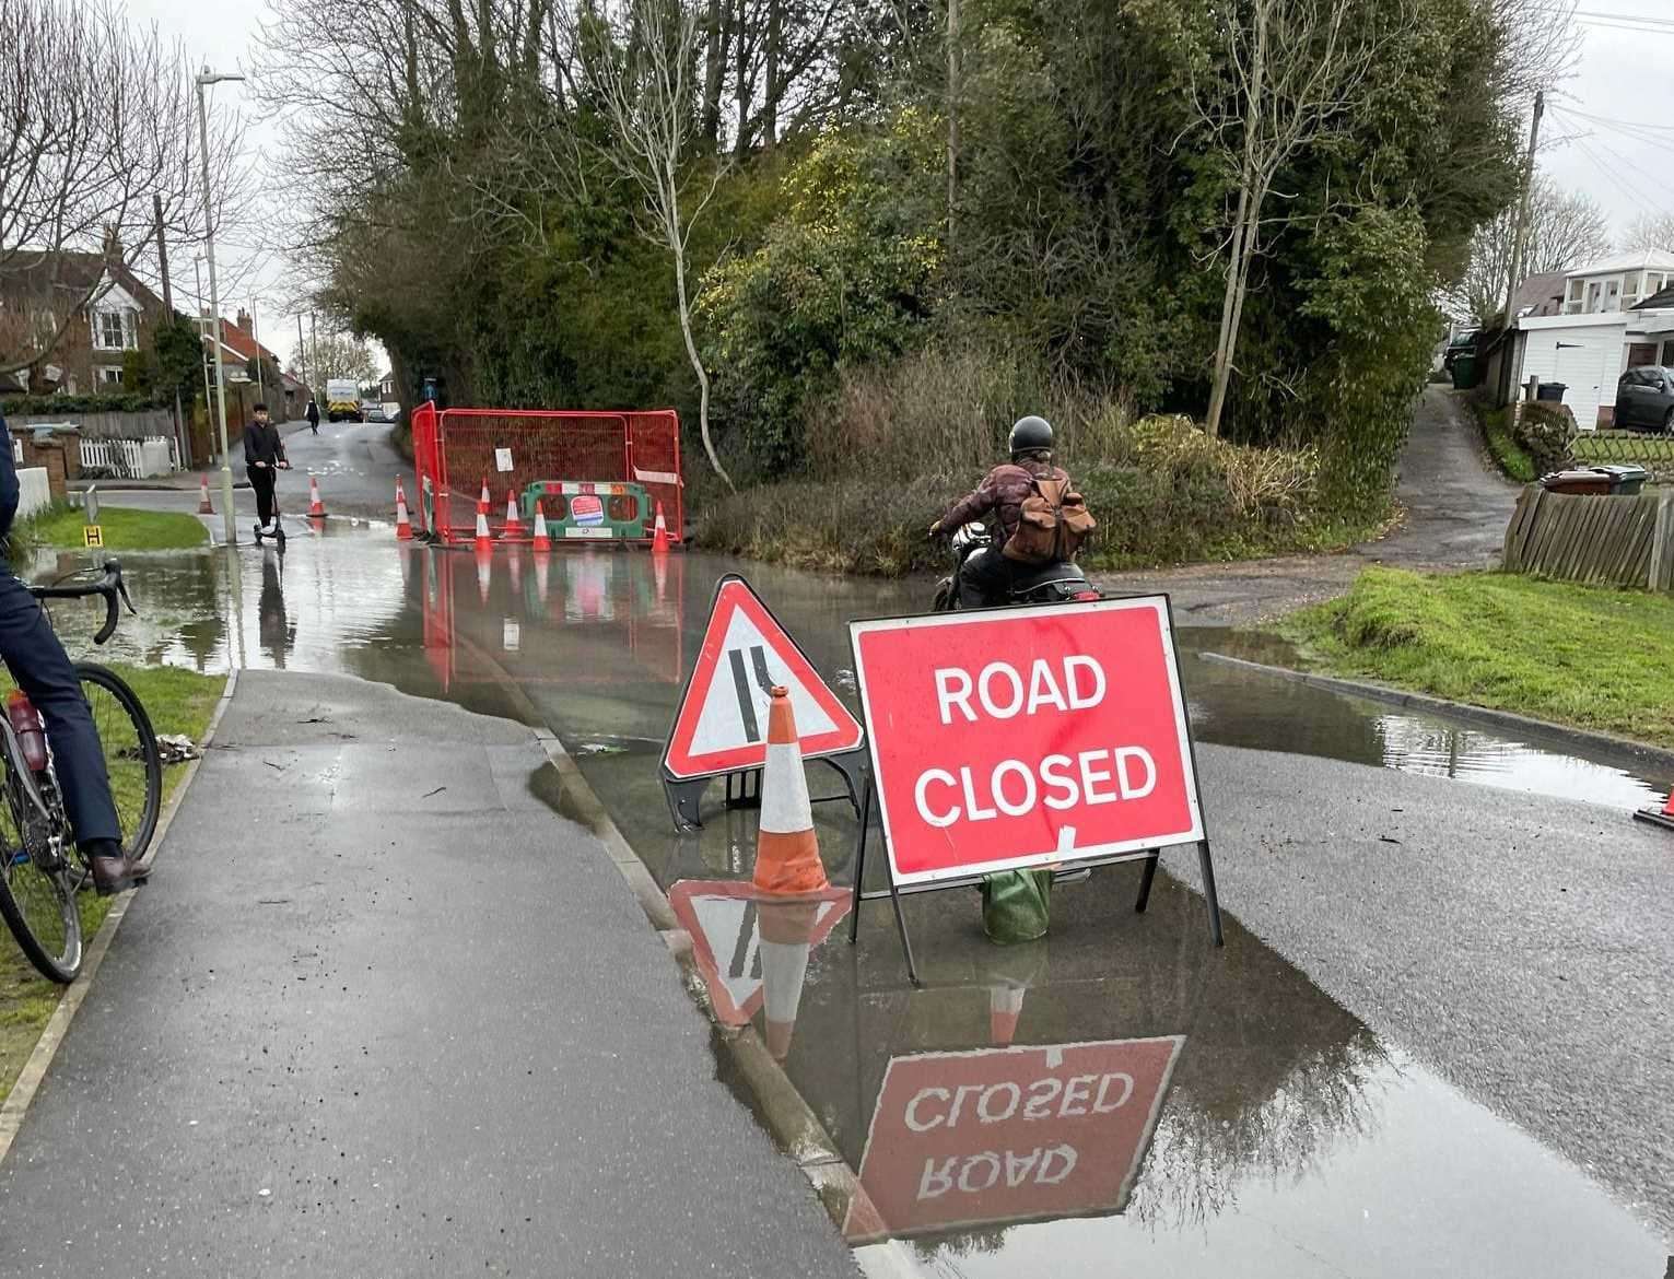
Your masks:
<svg viewBox="0 0 1674 1279"><path fill-rule="evenodd" d="M1127 1205L1184 1036L897 1056L860 1185L877 1217L850 1242Z"/></svg>

